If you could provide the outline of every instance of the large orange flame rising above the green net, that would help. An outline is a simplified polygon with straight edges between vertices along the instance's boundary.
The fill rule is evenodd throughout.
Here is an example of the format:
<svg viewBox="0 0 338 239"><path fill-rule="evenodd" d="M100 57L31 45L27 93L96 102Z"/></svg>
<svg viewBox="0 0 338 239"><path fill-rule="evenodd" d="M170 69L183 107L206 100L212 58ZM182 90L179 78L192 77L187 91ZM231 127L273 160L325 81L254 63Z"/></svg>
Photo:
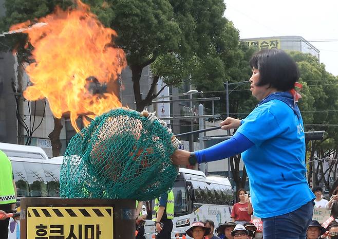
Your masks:
<svg viewBox="0 0 338 239"><path fill-rule="evenodd" d="M34 47L35 61L26 67L31 85L24 97L47 98L57 118L70 112L71 123L79 132L79 115L94 118L122 106L111 85L126 66L126 60L123 50L112 46L116 32L105 28L87 5L80 1L77 4L77 9L55 8L53 14L39 19L39 23L47 25L24 31ZM11 30L31 24L20 23ZM83 121L89 124L85 117Z"/></svg>

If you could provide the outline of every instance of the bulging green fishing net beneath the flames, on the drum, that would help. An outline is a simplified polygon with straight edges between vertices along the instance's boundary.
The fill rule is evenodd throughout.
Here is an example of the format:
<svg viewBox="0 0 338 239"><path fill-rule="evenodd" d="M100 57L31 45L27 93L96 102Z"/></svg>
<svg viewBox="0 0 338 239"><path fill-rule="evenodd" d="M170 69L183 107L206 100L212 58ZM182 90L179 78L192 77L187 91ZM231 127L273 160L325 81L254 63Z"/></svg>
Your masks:
<svg viewBox="0 0 338 239"><path fill-rule="evenodd" d="M173 187L170 156L178 140L153 113L117 108L72 137L64 155L60 196L151 200Z"/></svg>

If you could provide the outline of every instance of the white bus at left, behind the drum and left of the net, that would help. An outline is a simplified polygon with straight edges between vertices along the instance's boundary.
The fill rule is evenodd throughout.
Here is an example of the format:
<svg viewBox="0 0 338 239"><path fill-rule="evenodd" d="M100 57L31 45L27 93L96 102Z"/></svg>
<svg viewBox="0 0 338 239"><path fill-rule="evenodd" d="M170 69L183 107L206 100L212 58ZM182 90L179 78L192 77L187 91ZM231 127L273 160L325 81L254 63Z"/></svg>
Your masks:
<svg viewBox="0 0 338 239"><path fill-rule="evenodd" d="M49 159L39 147L0 143L11 160L17 190L22 197L59 197L60 168L63 157ZM20 222L10 218L8 239L20 238Z"/></svg>

